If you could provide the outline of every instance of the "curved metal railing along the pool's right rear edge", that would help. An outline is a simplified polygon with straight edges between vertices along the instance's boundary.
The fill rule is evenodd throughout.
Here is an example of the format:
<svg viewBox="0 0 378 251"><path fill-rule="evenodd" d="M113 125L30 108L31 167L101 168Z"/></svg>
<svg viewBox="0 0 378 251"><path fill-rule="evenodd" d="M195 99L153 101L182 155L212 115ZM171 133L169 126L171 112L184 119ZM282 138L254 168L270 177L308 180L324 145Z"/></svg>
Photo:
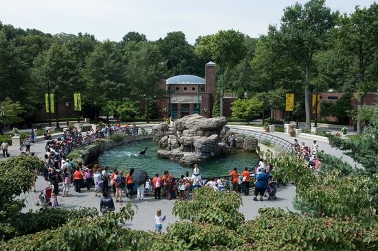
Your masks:
<svg viewBox="0 0 378 251"><path fill-rule="evenodd" d="M267 134L264 132L256 132L253 130L240 129L240 128L233 127L232 125L230 126L230 129L232 130L232 132L238 132L238 134L244 134L245 136L253 136L254 138L258 140L265 139L269 141L270 143L272 143L274 146L281 147L283 150L285 150L289 154L293 153L293 144L278 136L274 136L272 134Z"/></svg>

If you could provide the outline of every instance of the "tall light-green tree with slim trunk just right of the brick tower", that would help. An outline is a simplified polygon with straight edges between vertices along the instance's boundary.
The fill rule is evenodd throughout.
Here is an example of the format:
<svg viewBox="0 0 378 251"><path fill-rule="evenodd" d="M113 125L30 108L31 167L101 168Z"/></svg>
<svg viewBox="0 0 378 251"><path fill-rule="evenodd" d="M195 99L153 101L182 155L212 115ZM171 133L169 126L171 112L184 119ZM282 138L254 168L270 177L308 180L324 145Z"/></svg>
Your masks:
<svg viewBox="0 0 378 251"><path fill-rule="evenodd" d="M245 35L233 29L221 30L217 34L204 36L195 49L201 58L211 57L221 72L220 115L223 116L223 79L226 68L233 69L245 56Z"/></svg>

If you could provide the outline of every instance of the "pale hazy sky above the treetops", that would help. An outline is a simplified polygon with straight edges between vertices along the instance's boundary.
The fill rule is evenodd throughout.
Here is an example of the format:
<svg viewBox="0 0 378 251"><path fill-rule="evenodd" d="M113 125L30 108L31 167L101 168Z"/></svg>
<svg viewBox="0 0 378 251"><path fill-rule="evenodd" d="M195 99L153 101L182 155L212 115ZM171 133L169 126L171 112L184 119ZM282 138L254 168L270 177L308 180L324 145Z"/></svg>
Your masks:
<svg viewBox="0 0 378 251"><path fill-rule="evenodd" d="M199 36L234 29L252 38L278 25L287 6L304 0L0 0L0 21L49 34L93 34L120 41L128 32L148 40L184 32L188 43ZM351 14L373 0L326 0L331 10Z"/></svg>

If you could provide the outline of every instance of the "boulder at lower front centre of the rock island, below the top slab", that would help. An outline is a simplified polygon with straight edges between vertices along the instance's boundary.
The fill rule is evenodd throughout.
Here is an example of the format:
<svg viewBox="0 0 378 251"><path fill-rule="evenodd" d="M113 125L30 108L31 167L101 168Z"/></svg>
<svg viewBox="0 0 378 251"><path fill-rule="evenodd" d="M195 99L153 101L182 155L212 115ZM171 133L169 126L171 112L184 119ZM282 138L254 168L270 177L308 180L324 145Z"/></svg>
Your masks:
<svg viewBox="0 0 378 251"><path fill-rule="evenodd" d="M212 136L206 138L201 137L194 140L195 153L200 158L210 158L218 155L221 152L221 148L218 145L219 136L213 134Z"/></svg>

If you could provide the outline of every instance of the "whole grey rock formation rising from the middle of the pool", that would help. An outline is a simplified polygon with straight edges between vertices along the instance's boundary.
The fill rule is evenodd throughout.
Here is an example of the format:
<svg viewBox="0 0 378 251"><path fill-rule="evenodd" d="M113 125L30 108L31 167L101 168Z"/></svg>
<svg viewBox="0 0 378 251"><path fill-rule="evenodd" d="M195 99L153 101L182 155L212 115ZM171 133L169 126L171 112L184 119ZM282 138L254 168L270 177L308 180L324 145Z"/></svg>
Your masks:
<svg viewBox="0 0 378 251"><path fill-rule="evenodd" d="M160 158L179 161L181 165L194 165L220 154L235 154L237 149L254 152L257 139L232 132L225 117L207 119L188 115L174 125L160 123L153 127L153 141L165 150L157 151Z"/></svg>

